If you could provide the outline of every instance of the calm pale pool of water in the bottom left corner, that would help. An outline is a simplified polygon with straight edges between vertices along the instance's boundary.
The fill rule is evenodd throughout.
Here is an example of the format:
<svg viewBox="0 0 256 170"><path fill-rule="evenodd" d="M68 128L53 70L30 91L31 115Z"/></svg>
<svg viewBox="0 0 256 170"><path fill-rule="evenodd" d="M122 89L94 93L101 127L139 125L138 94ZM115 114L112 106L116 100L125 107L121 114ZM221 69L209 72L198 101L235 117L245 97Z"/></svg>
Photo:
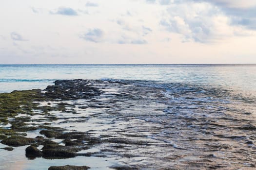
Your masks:
<svg viewBox="0 0 256 170"><path fill-rule="evenodd" d="M0 143L0 148L6 147ZM89 166L90 170L113 170L111 167L116 163L114 158L83 157L68 159L29 159L25 156L25 149L28 146L16 147L14 151L0 151L0 170L48 170L50 166L76 165Z"/></svg>

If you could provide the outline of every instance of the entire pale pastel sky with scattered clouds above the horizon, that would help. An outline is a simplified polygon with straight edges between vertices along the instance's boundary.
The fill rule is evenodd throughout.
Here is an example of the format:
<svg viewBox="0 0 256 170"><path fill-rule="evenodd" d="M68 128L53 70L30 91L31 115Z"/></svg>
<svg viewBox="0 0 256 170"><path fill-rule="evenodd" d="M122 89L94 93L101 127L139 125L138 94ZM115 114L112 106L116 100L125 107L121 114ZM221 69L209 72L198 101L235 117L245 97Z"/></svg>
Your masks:
<svg viewBox="0 0 256 170"><path fill-rule="evenodd" d="M0 0L0 64L256 63L256 0Z"/></svg>

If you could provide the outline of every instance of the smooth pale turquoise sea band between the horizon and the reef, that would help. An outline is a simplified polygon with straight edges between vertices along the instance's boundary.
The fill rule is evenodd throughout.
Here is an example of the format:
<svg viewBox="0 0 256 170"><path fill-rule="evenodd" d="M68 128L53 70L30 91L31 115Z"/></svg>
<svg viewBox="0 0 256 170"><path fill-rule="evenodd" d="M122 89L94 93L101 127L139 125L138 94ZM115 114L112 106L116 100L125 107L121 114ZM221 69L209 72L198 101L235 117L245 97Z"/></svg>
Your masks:
<svg viewBox="0 0 256 170"><path fill-rule="evenodd" d="M0 65L0 93L78 78L202 84L256 93L256 65Z"/></svg>

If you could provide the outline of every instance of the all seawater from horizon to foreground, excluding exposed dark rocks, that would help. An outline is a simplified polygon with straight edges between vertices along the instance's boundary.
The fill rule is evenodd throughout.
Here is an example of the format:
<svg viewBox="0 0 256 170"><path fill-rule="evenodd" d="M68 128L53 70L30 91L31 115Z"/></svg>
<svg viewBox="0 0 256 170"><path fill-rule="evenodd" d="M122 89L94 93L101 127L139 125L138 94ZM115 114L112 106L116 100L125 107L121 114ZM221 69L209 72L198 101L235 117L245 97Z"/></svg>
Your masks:
<svg viewBox="0 0 256 170"><path fill-rule="evenodd" d="M63 79L84 80L54 85ZM0 65L1 93L48 85L44 93L58 87L71 97L90 97L40 102L36 114L15 119L37 129L27 137L43 136L41 124L85 135L79 146L88 148L78 154L86 156L30 159L27 146L15 147L0 150L0 170L256 167L256 65ZM89 90L76 91L83 87ZM57 106L65 109L40 110ZM11 128L15 119L0 128ZM49 139L65 146L61 137Z"/></svg>

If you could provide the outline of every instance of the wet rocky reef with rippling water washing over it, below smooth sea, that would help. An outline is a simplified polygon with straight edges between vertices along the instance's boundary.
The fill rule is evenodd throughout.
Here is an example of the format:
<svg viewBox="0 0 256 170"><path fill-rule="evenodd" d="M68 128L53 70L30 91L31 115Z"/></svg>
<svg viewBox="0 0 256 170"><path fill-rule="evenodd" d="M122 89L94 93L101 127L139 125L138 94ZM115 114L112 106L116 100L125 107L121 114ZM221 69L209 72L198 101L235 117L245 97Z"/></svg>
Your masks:
<svg viewBox="0 0 256 170"><path fill-rule="evenodd" d="M13 95L25 100L20 93L26 94ZM33 100L21 103L29 108L14 102L11 119L1 118L7 128L0 128L0 137L9 146L32 144L26 149L32 157L115 158L116 170L256 167L254 96L219 87L81 79L27 93ZM7 103L10 95L3 96ZM30 132L37 137L21 136Z"/></svg>

